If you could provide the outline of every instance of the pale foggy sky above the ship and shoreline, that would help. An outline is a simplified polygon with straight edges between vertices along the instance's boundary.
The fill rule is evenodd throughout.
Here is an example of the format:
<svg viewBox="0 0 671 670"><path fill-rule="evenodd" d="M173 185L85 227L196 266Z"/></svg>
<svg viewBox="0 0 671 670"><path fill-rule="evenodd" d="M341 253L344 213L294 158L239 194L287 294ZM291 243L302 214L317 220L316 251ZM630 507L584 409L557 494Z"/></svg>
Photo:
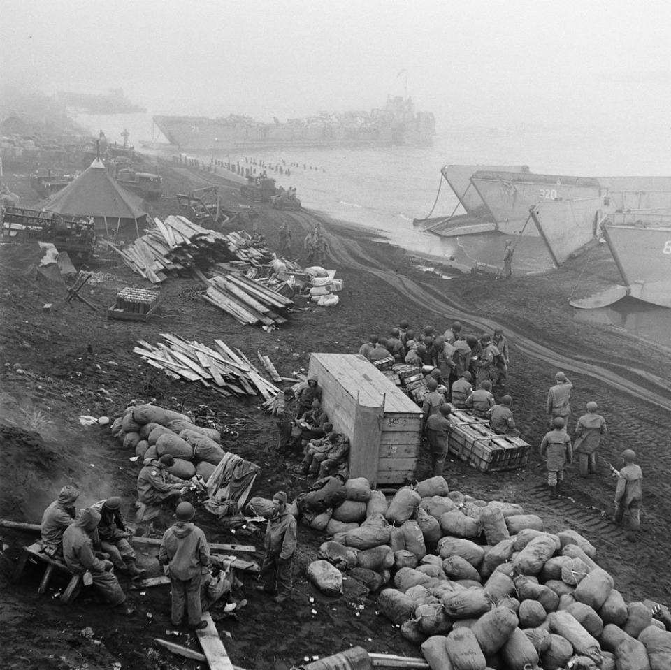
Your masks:
<svg viewBox="0 0 671 670"><path fill-rule="evenodd" d="M152 113L370 110L403 94L407 76L439 126L668 126L669 3L3 0L1 10L2 78L49 93L122 87Z"/></svg>

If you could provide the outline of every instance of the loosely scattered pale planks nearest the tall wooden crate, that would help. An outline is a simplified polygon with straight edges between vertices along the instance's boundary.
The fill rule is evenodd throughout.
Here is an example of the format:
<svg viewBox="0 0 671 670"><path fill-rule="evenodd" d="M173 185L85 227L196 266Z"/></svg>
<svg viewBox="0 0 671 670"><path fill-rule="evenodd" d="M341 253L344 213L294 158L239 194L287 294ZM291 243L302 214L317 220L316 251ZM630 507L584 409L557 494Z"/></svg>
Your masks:
<svg viewBox="0 0 671 670"><path fill-rule="evenodd" d="M166 342L159 342L156 347L138 340L140 346L133 351L174 379L200 381L203 386L226 396L260 394L268 400L280 391L261 377L240 349L233 350L222 340L215 340L215 348L212 348L170 333L161 333L161 337Z"/></svg>

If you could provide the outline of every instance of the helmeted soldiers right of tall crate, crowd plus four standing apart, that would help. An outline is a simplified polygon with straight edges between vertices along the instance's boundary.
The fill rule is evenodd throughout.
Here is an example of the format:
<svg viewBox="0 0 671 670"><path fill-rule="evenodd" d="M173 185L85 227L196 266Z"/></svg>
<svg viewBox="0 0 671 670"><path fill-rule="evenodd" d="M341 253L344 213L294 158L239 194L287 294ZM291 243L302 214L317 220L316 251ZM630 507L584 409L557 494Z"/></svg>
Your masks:
<svg viewBox="0 0 671 670"><path fill-rule="evenodd" d="M427 393L422 410L434 475L442 474L445 465L452 407L470 409L475 416L488 421L497 435L519 436L511 409L512 396L506 393L497 403L492 393L497 387L505 388L509 373L510 351L501 328L496 328L492 335L484 333L478 337L466 335L461 323L454 321L445 333L436 335L433 326L416 331L403 320L389 330L386 339L370 335L359 354L373 364L393 358L396 363L414 365L425 372ZM575 442L572 442L569 432L572 388L566 374L557 372L547 394L545 409L551 430L542 438L540 456L547 466L548 486L555 494L563 482L565 467L574 460L579 476L597 474L598 448L607 431L605 418L597 413L598 405L590 401L575 425ZM635 458L635 453L627 449L622 454L625 466L619 471L612 466L611 469L619 478L614 518L620 523L628 511L630 527L639 530L642 472L635 465Z"/></svg>

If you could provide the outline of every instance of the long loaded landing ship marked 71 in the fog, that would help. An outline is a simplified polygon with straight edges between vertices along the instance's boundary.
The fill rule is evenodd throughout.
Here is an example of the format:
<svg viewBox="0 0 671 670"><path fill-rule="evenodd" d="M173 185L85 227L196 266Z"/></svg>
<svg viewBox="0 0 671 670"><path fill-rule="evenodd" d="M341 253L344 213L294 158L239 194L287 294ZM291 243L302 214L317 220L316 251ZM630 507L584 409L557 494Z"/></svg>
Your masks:
<svg viewBox="0 0 671 670"><path fill-rule="evenodd" d="M251 117L224 119L155 116L154 123L180 150L232 150L265 147L429 144L435 135L432 112L417 112L410 98L389 97L370 112L319 112L317 116L268 124Z"/></svg>

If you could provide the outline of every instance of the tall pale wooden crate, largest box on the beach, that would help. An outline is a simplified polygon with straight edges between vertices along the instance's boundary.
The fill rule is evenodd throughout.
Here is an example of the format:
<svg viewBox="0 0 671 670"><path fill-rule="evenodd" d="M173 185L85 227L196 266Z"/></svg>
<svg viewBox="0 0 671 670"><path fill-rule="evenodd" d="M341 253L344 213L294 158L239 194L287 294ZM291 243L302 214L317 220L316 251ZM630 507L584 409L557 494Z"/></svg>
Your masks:
<svg viewBox="0 0 671 670"><path fill-rule="evenodd" d="M311 354L333 430L349 437L349 472L377 484L412 479L421 442L421 408L359 354Z"/></svg>

